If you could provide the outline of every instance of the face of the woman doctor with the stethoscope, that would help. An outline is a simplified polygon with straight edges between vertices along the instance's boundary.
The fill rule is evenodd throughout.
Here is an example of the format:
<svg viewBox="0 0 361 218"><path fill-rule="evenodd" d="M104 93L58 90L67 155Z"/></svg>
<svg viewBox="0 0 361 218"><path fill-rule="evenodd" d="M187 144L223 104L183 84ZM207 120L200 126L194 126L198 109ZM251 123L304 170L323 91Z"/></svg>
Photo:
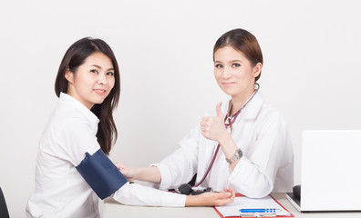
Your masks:
<svg viewBox="0 0 361 218"><path fill-rule="evenodd" d="M230 45L214 53L214 76L225 94L244 100L253 94L255 77L261 73L262 64L253 66L247 57Z"/></svg>

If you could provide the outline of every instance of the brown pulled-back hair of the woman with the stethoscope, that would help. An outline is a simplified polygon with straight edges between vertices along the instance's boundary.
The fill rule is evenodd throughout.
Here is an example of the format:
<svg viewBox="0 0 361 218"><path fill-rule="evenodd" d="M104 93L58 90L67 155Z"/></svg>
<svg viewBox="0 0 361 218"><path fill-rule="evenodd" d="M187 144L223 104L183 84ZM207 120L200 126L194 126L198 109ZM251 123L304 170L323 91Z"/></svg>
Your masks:
<svg viewBox="0 0 361 218"><path fill-rule="evenodd" d="M253 66L255 66L257 63L263 64L263 54L261 47L258 44L256 37L247 30L238 28L223 34L213 47L213 61L214 53L218 49L227 45L230 45L234 49L242 52L251 62L251 64L253 64ZM256 82L260 76L261 73L255 78L254 82Z"/></svg>

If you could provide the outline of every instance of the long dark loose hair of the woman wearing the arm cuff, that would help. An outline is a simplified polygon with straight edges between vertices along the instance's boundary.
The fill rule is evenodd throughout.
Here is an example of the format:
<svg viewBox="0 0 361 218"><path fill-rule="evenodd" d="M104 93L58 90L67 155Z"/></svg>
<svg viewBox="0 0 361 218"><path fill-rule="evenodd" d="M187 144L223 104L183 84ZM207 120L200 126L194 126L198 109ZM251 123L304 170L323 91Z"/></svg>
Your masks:
<svg viewBox="0 0 361 218"><path fill-rule="evenodd" d="M57 97L59 97L60 92L67 93L68 82L65 77L67 69L75 74L77 67L84 64L90 54L96 52L107 55L114 67L115 84L113 89L102 104L94 104L91 108L91 112L96 114L100 120L97 133L98 143L103 152L109 154L112 144L117 141L118 137L117 127L113 119L113 110L118 106L120 95L119 66L109 45L101 39L90 37L82 38L71 45L67 49L67 53L64 55L59 70L57 71L55 91Z"/></svg>

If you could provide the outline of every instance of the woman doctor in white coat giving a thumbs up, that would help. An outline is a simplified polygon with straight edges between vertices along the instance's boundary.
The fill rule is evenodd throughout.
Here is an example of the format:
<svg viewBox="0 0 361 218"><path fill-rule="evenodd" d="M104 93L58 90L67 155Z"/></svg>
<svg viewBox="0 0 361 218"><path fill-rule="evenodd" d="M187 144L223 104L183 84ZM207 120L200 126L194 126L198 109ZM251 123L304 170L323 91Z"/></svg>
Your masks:
<svg viewBox="0 0 361 218"><path fill-rule="evenodd" d="M257 39L244 29L222 35L213 47L214 77L230 100L201 119L180 141L180 148L152 167L117 164L129 180L160 189L191 180L194 186L259 198L291 191L294 153L284 117L265 103L256 82L263 68Z"/></svg>

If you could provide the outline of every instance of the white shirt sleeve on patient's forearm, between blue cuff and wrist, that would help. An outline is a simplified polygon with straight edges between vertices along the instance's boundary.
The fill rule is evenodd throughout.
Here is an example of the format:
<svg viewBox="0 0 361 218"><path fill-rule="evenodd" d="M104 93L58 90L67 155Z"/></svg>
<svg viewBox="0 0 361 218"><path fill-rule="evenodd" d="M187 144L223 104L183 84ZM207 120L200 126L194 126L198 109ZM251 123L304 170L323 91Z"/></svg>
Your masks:
<svg viewBox="0 0 361 218"><path fill-rule="evenodd" d="M117 202L127 205L184 207L187 196L160 191L137 183L125 183L112 197Z"/></svg>

